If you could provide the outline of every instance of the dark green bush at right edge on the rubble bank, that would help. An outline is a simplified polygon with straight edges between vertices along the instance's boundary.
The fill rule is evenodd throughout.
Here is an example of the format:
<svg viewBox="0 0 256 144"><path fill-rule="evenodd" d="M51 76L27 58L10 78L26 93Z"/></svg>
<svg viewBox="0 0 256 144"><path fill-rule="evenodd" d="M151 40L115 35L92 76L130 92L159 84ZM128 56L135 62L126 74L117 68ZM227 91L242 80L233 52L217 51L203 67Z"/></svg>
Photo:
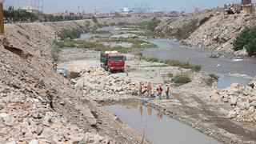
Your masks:
<svg viewBox="0 0 256 144"><path fill-rule="evenodd" d="M246 48L249 56L256 55L256 26L246 27L234 40L234 50Z"/></svg>

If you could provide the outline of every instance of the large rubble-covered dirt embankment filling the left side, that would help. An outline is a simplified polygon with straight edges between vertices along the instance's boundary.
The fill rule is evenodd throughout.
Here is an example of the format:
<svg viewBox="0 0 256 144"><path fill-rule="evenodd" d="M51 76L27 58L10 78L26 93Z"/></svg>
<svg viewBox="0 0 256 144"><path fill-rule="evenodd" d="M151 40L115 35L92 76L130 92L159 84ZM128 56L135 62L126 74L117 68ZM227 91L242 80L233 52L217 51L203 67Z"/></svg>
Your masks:
<svg viewBox="0 0 256 144"><path fill-rule="evenodd" d="M6 26L0 47L0 142L139 143L141 137L55 74L58 30L85 21Z"/></svg>

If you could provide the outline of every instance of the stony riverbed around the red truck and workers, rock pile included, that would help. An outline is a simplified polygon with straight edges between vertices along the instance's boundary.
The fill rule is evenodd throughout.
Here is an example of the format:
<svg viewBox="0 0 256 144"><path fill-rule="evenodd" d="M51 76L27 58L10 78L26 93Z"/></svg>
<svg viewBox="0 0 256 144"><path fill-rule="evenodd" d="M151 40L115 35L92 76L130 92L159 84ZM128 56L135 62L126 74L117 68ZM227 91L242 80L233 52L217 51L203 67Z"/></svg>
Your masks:
<svg viewBox="0 0 256 144"><path fill-rule="evenodd" d="M74 53L78 49L70 49ZM194 127L204 134L225 143L254 143L256 139L251 122L238 122L227 118L230 107L225 103L215 102L210 94L215 90L216 83L208 86L207 74L195 73L191 70L180 69L162 65L158 62L145 62L126 54L129 75L117 73L110 74L99 66L99 53L84 50L78 60L69 59L69 49L62 50L59 67L68 67L70 71L78 71L80 77L71 80L74 86L84 91L86 97L96 102L110 104L123 102L137 102L145 106L162 111L172 118L178 119L189 126ZM80 51L80 50L79 50ZM81 51L80 51L81 52ZM65 55L65 57L62 57ZM96 62L95 62L96 61ZM155 67L154 67L155 66ZM171 99L162 100L138 96L138 82L152 82L154 90L159 83L164 84L168 79L166 74L188 74L192 82L183 86L171 86Z"/></svg>

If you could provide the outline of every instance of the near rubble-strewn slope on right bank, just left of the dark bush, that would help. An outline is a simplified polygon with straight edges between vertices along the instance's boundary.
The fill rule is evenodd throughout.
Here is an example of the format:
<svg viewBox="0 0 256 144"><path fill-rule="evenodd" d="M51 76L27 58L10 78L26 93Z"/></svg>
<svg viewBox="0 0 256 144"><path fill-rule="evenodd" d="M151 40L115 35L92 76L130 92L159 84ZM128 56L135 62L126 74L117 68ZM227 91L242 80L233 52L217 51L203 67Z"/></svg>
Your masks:
<svg viewBox="0 0 256 144"><path fill-rule="evenodd" d="M245 26L251 26L254 22L253 14L227 16L219 14L200 26L185 42L190 46L209 47L218 51L233 53L233 42L236 36ZM242 50L236 54L246 54L246 51Z"/></svg>

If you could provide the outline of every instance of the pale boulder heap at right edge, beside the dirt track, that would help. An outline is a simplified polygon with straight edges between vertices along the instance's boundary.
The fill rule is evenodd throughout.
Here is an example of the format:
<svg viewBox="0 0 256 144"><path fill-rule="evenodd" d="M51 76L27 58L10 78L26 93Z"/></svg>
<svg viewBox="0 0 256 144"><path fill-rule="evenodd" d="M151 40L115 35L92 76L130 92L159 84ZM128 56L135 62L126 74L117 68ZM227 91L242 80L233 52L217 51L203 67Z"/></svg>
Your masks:
<svg viewBox="0 0 256 144"><path fill-rule="evenodd" d="M238 122L256 121L256 81L250 82L248 86L234 83L224 90L214 90L210 98L231 106L227 118Z"/></svg>

